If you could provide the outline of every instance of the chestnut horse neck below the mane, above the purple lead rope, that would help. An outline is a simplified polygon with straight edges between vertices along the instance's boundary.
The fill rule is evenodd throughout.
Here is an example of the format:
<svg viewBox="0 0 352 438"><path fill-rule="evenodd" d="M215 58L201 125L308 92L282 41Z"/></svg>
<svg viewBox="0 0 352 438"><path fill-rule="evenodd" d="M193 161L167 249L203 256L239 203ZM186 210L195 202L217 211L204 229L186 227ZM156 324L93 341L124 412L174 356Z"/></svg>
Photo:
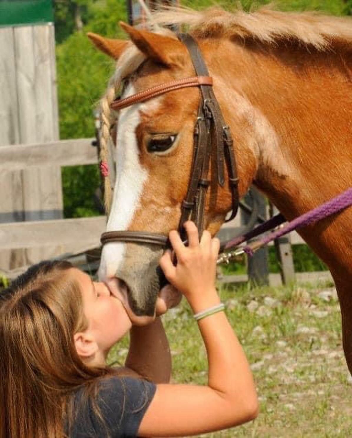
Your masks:
<svg viewBox="0 0 352 438"><path fill-rule="evenodd" d="M290 219L351 186L351 52L224 40L209 59L242 191L254 180Z"/></svg>

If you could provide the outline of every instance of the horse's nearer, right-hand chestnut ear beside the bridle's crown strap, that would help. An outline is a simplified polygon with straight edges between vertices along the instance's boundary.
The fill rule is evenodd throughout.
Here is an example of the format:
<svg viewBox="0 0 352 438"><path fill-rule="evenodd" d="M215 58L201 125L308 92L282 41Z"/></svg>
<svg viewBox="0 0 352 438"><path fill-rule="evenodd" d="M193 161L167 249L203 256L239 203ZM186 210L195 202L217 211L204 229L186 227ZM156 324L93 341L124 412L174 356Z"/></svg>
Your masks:
<svg viewBox="0 0 352 438"><path fill-rule="evenodd" d="M153 61L166 66L183 64L185 47L178 39L136 29L123 21L120 21L120 26L128 33L135 46Z"/></svg>

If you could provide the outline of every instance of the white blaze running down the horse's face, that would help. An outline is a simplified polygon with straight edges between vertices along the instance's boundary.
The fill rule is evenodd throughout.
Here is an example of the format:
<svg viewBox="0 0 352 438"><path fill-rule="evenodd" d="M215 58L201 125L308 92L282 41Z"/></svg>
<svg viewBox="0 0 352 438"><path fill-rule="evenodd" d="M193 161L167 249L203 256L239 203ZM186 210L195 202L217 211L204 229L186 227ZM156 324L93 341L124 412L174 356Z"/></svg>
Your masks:
<svg viewBox="0 0 352 438"><path fill-rule="evenodd" d="M122 98L135 94L129 85ZM120 111L117 124L116 141L116 184L107 231L124 231L128 229L133 215L139 206L143 185L148 172L139 162L139 148L135 134L139 125L139 106L135 104ZM103 247L99 268L100 279L115 276L124 258L126 244L116 242Z"/></svg>

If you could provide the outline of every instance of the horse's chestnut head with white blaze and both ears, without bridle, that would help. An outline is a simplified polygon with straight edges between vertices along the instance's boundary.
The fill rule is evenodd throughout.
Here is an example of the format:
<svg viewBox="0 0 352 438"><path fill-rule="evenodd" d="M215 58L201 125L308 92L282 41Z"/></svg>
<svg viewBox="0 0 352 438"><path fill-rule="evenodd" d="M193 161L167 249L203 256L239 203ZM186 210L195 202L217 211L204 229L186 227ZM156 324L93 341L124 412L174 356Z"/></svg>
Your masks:
<svg viewBox="0 0 352 438"><path fill-rule="evenodd" d="M110 113L116 83L124 99L195 76L188 50L173 32L157 34L125 24L122 27L130 36L129 42L89 35L99 49L117 59L112 91L103 100L103 120L115 118L117 127L117 179L107 231L148 231L167 236L170 230L178 228L188 189L200 93L196 87L178 89ZM214 76L208 50L212 44L205 40L201 50L210 75ZM220 90L214 82L221 104L226 90ZM222 110L225 119L230 118L226 108ZM243 194L254 173L253 157L242 153L241 162L240 194ZM219 186L215 167L210 165L204 216L204 227L212 235L217 233L232 205L228 173L225 184ZM127 286L129 307L136 316L153 317L155 313L156 297L163 286L159 268L162 253L163 247L155 244L112 242L103 247L100 279L113 287L114 279L118 278L120 286Z"/></svg>

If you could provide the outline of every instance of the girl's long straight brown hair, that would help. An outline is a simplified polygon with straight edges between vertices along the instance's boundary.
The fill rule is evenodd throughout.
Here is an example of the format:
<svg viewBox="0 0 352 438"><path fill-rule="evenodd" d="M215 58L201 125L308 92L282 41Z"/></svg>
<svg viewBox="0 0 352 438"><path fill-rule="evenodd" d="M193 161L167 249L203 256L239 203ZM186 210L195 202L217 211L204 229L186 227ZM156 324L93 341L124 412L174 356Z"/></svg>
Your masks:
<svg viewBox="0 0 352 438"><path fill-rule="evenodd" d="M109 369L87 367L74 345L86 328L66 261L34 265L0 293L0 438L61 438L72 393Z"/></svg>

